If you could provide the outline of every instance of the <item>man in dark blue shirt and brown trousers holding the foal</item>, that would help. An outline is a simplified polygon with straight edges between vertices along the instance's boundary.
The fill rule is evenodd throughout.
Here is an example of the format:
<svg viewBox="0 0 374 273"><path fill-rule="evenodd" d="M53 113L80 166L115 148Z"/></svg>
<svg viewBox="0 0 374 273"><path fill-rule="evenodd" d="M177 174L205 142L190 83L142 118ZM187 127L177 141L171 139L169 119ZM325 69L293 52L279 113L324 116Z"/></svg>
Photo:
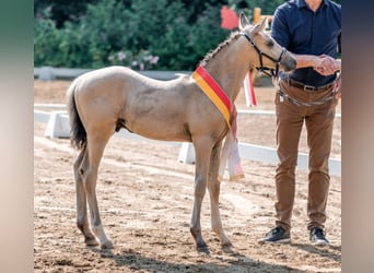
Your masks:
<svg viewBox="0 0 374 273"><path fill-rule="evenodd" d="M313 245L328 245L324 225L329 190L328 157L335 108L340 98L341 7L330 0L291 0L274 12L271 36L296 59L279 75L276 97L276 227L260 242L290 242L299 140L305 122L309 147L307 215ZM339 85L339 86L337 86Z"/></svg>

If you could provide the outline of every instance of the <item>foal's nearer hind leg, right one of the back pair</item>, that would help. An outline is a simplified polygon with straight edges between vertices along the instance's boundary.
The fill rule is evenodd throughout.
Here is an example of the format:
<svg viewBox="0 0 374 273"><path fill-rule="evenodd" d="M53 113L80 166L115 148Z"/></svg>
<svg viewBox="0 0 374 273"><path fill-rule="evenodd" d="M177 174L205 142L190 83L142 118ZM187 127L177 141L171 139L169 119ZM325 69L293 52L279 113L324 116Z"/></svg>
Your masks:
<svg viewBox="0 0 374 273"><path fill-rule="evenodd" d="M87 203L90 206L91 229L97 238L101 248L103 249L113 248L112 241L107 238L107 236L104 233L96 198L97 170L107 140L108 139L103 138L87 139L87 157L84 157L84 159L89 158L89 165L85 170L85 175L83 174L85 178L85 192L87 195ZM85 162L83 162L83 164L85 164Z"/></svg>

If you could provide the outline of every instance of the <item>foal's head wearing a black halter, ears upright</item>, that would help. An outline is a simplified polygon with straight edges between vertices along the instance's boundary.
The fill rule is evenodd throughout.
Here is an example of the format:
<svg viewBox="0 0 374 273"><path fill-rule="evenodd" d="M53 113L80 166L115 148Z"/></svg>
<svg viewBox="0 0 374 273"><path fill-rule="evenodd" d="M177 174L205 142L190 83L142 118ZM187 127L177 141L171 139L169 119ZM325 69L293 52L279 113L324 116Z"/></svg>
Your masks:
<svg viewBox="0 0 374 273"><path fill-rule="evenodd" d="M270 69L271 75L278 75L279 69L284 71L294 70L296 68L295 59L265 32L266 25L266 19L256 25L250 25L244 13L239 14L238 26L241 34L258 54L258 60L254 66L260 71Z"/></svg>

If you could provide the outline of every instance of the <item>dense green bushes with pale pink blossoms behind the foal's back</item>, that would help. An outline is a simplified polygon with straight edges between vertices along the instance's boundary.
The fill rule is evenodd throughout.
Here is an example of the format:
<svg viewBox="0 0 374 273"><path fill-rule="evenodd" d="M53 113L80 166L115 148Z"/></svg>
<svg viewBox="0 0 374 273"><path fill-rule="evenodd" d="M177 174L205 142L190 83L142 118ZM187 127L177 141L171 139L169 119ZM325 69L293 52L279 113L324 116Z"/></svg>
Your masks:
<svg viewBox="0 0 374 273"><path fill-rule="evenodd" d="M192 14L183 1L101 0L79 20L57 27L50 14L35 21L34 66L96 69L194 70L229 34L220 4ZM196 16L196 22L188 22Z"/></svg>

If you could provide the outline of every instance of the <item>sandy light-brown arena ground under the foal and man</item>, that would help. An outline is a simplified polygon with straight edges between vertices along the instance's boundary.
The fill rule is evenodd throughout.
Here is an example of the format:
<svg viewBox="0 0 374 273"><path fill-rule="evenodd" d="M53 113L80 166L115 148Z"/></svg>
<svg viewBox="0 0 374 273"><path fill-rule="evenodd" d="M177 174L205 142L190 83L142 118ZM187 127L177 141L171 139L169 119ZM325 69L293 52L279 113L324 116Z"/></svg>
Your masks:
<svg viewBox="0 0 374 273"><path fill-rule="evenodd" d="M35 104L65 104L69 81L35 80ZM274 91L256 86L258 105L273 110ZM337 112L340 112L340 103ZM247 109L241 93L236 106ZM34 124L34 272L341 272L341 179L331 176L326 223L331 245L309 245L306 229L307 173L296 173L290 245L260 245L274 224L274 166L242 159L245 178L222 182L220 207L227 237L222 249L210 229L209 194L202 206L202 235L210 253L197 252L189 233L195 166L178 162L168 142L114 136L100 168L97 199L106 234L115 248L85 247L75 226L72 161L67 139L44 136ZM274 147L273 116L239 116L241 142ZM305 132L300 152L307 152ZM332 157L341 154L341 121L336 119Z"/></svg>

